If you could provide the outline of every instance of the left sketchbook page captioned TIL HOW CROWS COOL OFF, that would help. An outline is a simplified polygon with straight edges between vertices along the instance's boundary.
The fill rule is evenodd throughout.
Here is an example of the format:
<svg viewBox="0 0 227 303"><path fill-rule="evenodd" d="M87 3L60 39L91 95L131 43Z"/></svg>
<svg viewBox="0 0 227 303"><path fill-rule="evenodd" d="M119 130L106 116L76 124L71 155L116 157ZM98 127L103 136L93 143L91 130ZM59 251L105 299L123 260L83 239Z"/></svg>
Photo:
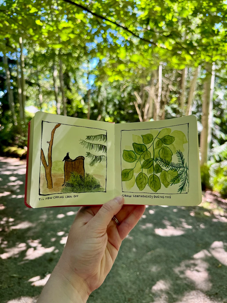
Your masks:
<svg viewBox="0 0 227 303"><path fill-rule="evenodd" d="M100 205L113 198L113 145L111 123L37 112L31 207Z"/></svg>

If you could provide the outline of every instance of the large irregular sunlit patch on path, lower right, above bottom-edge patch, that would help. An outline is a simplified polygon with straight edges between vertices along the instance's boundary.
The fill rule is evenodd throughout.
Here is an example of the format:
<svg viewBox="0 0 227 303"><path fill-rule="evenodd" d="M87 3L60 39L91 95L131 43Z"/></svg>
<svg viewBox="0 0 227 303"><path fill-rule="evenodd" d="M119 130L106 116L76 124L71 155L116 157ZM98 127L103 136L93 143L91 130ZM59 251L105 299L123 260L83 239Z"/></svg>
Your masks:
<svg viewBox="0 0 227 303"><path fill-rule="evenodd" d="M212 287L209 281L208 267L209 264L201 259L186 260L182 261L179 267L174 268L174 271L180 278L188 278L193 281L196 288L202 291L208 291Z"/></svg>

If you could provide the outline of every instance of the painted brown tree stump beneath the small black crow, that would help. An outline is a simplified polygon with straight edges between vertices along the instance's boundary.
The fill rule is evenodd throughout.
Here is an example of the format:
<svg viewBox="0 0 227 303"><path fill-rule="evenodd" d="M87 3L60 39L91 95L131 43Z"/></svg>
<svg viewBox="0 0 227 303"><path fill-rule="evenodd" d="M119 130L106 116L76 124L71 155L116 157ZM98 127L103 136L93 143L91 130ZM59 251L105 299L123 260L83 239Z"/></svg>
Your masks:
<svg viewBox="0 0 227 303"><path fill-rule="evenodd" d="M64 163L64 182L68 182L71 173L75 173L75 175L81 175L84 178L84 157L79 156L75 158L74 160L72 159L67 159L65 160Z"/></svg>

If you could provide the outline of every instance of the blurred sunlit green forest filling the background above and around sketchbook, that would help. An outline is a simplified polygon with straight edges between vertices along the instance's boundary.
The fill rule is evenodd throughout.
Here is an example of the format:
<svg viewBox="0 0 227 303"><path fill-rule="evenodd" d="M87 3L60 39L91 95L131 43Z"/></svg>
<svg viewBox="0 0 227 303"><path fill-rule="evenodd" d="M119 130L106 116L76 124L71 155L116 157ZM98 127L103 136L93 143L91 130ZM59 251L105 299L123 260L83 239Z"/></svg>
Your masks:
<svg viewBox="0 0 227 303"><path fill-rule="evenodd" d="M0 153L38 110L125 123L194 114L203 189L227 196L227 1L0 1Z"/></svg>

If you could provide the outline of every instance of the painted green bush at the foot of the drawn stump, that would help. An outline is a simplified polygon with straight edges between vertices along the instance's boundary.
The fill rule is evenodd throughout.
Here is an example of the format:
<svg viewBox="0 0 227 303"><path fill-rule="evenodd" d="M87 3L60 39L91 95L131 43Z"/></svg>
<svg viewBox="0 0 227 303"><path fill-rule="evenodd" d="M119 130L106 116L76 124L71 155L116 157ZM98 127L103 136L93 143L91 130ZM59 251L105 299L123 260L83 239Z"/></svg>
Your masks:
<svg viewBox="0 0 227 303"><path fill-rule="evenodd" d="M75 175L71 173L71 178L68 182L65 182L62 188L62 192L95 192L104 191L100 182L90 174L85 174L83 178L81 175Z"/></svg>

